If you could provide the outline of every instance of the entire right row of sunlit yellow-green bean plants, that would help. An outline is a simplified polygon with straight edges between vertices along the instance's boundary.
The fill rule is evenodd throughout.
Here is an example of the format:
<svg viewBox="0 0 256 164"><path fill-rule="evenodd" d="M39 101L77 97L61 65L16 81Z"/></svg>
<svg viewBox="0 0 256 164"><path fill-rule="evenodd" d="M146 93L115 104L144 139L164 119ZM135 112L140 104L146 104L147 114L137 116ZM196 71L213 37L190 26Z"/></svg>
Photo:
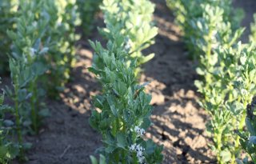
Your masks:
<svg viewBox="0 0 256 164"><path fill-rule="evenodd" d="M251 142L239 134L245 130L245 120L253 118L249 115L246 119L246 106L256 91L255 46L238 42L244 30L239 27L242 12L234 10L231 2L167 0L183 31L187 50L199 61L201 79L195 85L203 97L201 106L211 116L207 130L218 163L236 162L241 158L240 142L243 146L245 141ZM247 127L249 124L254 123L247 123ZM248 153L255 153L248 149Z"/></svg>

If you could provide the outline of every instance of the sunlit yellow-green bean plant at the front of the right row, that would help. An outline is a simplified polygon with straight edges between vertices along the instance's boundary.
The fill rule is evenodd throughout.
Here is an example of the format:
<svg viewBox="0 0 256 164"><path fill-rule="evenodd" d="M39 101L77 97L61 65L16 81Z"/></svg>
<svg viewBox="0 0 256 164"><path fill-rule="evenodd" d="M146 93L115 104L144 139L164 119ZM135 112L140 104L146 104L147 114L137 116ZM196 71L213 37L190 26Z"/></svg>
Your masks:
<svg viewBox="0 0 256 164"><path fill-rule="evenodd" d="M216 55L218 65L211 72L208 88L202 91L205 96L202 104L212 116L209 129L214 134L218 161L234 163L241 153L234 130L243 130L246 105L256 90L255 51L251 46L238 44L234 48L219 48Z"/></svg>

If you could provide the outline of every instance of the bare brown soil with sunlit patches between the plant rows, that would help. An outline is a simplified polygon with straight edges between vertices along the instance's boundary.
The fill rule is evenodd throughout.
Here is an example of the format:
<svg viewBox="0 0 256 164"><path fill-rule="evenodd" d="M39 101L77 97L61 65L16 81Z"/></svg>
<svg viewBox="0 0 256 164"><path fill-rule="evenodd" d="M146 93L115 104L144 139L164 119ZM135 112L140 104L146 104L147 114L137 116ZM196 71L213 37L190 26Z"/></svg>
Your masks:
<svg viewBox="0 0 256 164"><path fill-rule="evenodd" d="M207 114L197 105L198 94L194 86L197 77L193 63L186 58L174 17L165 1L155 0L155 21L159 34L145 53L154 52L155 58L146 64L142 82L149 82L146 90L153 95L154 126L147 138L165 146L164 163L216 163L207 144L205 124ZM246 9L243 25L248 26L256 12L254 0L236 0L235 6ZM102 25L102 20L97 22ZM246 31L246 34L249 30ZM90 38L100 39L97 30ZM245 38L246 40L246 35ZM34 143L27 154L28 164L90 164L89 156L101 146L100 136L90 128L91 96L100 87L88 72L92 51L86 39L79 42L78 63L73 82L67 85L60 101L48 100L51 117L46 118L40 134L26 139Z"/></svg>

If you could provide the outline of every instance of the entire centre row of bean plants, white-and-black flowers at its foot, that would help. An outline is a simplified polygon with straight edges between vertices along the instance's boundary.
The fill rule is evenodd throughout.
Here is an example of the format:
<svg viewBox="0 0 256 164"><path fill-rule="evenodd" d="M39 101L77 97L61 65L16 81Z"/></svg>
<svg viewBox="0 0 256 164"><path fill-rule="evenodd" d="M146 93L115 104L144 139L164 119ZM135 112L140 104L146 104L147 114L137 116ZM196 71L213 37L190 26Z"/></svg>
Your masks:
<svg viewBox="0 0 256 164"><path fill-rule="evenodd" d="M144 91L146 84L138 84L137 71L153 56L144 57L142 50L157 34L152 25L154 5L147 0L103 0L101 8L106 48L90 42L95 51L90 72L102 84L90 117L90 126L102 134L100 163L161 163L162 146L144 137L152 124L151 96ZM93 156L91 161L98 163Z"/></svg>

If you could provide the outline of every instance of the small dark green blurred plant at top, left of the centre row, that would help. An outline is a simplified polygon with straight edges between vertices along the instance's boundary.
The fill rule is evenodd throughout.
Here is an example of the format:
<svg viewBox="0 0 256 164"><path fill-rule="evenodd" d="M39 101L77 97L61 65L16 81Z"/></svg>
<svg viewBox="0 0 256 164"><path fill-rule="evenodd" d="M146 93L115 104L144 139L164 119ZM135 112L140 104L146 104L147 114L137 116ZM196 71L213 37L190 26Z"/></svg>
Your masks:
<svg viewBox="0 0 256 164"><path fill-rule="evenodd" d="M77 0L83 34L90 34L90 31L93 29L95 14L98 12L101 3L102 0Z"/></svg>

